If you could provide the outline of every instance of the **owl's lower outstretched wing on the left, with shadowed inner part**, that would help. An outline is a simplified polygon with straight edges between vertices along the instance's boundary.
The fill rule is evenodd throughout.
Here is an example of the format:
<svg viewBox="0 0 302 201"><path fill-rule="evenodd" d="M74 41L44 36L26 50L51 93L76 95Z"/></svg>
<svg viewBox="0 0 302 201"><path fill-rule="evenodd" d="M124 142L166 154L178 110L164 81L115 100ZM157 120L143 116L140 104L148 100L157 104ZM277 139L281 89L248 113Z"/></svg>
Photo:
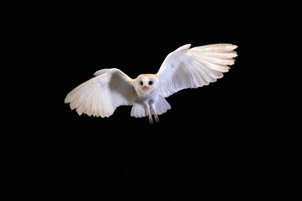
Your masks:
<svg viewBox="0 0 302 201"><path fill-rule="evenodd" d="M70 91L65 103L79 115L109 117L122 105L133 105L137 94L132 80L119 69L102 69L96 77L80 84Z"/></svg>

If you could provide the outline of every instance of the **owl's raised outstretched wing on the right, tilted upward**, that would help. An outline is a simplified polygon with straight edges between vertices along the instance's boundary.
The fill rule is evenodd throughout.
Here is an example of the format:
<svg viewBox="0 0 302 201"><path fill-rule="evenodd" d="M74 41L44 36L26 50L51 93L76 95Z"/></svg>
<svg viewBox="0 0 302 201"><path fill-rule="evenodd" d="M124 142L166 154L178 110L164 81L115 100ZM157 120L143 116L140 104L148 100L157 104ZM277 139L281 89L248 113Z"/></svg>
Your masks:
<svg viewBox="0 0 302 201"><path fill-rule="evenodd" d="M189 49L179 47L164 60L157 73L160 94L168 97L185 88L197 88L215 82L228 72L238 56L233 44L212 44Z"/></svg>

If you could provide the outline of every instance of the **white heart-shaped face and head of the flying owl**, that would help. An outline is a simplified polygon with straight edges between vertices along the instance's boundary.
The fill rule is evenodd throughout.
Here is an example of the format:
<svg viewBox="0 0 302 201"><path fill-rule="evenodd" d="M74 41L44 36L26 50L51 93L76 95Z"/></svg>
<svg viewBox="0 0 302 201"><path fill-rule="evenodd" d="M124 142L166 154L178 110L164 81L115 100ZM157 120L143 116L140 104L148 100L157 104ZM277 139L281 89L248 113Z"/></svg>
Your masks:
<svg viewBox="0 0 302 201"><path fill-rule="evenodd" d="M158 89L158 77L155 74L141 74L134 79L133 84L140 94L151 94Z"/></svg>

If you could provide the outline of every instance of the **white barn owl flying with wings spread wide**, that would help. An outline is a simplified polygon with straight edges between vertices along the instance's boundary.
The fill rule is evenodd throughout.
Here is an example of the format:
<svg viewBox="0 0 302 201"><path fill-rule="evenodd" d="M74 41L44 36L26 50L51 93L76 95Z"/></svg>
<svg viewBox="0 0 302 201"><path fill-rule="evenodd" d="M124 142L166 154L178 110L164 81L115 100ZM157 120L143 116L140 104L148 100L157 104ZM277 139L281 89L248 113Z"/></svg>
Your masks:
<svg viewBox="0 0 302 201"><path fill-rule="evenodd" d="M151 125L154 118L159 123L158 116L171 109L166 97L215 82L238 56L233 44L190 47L186 44L168 54L156 74L132 79L117 68L101 69L71 90L64 103L79 115L102 118L111 116L119 106L132 106L131 117L148 117Z"/></svg>

